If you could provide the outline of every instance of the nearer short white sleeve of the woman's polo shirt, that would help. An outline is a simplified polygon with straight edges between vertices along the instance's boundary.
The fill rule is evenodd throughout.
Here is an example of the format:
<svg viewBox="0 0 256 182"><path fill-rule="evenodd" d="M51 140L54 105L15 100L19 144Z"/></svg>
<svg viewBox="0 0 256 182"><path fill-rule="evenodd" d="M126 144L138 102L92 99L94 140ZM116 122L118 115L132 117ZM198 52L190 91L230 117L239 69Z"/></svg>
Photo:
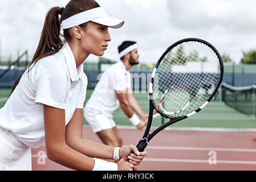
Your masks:
<svg viewBox="0 0 256 182"><path fill-rule="evenodd" d="M35 78L35 102L66 109L68 73L56 65L38 69Z"/></svg>

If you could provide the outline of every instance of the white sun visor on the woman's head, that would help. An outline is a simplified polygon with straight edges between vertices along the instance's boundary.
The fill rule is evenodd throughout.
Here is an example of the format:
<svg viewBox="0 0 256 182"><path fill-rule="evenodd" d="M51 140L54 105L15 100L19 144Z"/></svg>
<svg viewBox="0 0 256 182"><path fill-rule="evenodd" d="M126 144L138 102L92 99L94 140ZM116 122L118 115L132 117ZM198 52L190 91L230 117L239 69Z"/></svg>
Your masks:
<svg viewBox="0 0 256 182"><path fill-rule="evenodd" d="M63 20L61 25L62 29L65 30L90 21L103 24L110 28L120 28L124 25L124 20L112 18L101 7L96 7L95 9L71 16Z"/></svg>

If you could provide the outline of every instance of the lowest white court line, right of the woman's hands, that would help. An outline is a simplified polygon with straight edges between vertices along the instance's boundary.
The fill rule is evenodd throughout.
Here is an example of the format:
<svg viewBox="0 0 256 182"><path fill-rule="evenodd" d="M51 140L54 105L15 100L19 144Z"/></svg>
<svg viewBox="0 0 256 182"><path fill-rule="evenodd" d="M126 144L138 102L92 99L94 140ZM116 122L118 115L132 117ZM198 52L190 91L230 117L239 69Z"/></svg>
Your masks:
<svg viewBox="0 0 256 182"><path fill-rule="evenodd" d="M197 159L144 158L143 161L149 161L149 162L178 162L178 163L208 163L209 164L209 160L197 160ZM220 164L220 163L221 164L256 164L256 161L216 160L216 164Z"/></svg>

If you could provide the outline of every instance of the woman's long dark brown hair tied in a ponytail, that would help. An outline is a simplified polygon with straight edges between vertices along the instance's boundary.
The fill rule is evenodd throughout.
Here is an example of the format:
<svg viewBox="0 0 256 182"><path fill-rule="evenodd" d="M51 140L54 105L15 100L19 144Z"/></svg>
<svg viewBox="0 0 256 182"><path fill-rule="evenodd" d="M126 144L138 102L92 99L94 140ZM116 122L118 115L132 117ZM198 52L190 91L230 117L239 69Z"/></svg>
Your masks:
<svg viewBox="0 0 256 182"><path fill-rule="evenodd" d="M14 92L16 86L19 84L19 81L21 80L23 73L25 73L27 69L29 69L30 71L34 67L34 65L38 62L38 60L42 59L43 57L51 56L59 52L59 50L63 47L64 42L71 39L70 28L64 30L63 35L60 34L60 23L64 19L70 18L75 14L79 14L79 13L82 13L83 11L94 9L96 7L100 7L100 5L94 0L71 0L63 9L60 19L59 19L59 12L61 10L60 7L58 6L52 7L47 12L42 34L40 36L38 48L35 51L35 55L31 63L27 65L26 69L21 73L21 75L15 81L13 85L13 89L11 90L11 94ZM87 23L80 24L79 26L86 27ZM62 37L64 37L65 39L62 40Z"/></svg>

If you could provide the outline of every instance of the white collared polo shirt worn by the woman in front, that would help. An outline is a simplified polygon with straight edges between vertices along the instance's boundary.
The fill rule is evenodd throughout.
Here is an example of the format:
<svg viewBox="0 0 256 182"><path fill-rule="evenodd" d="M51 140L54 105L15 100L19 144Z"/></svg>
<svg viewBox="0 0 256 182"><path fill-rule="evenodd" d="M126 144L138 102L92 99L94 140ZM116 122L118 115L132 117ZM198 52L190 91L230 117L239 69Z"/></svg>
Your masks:
<svg viewBox="0 0 256 182"><path fill-rule="evenodd" d="M0 109L0 126L32 148L44 144L43 105L65 110L66 125L76 108L83 109L87 76L76 68L68 44L44 57L25 72L13 94Z"/></svg>

